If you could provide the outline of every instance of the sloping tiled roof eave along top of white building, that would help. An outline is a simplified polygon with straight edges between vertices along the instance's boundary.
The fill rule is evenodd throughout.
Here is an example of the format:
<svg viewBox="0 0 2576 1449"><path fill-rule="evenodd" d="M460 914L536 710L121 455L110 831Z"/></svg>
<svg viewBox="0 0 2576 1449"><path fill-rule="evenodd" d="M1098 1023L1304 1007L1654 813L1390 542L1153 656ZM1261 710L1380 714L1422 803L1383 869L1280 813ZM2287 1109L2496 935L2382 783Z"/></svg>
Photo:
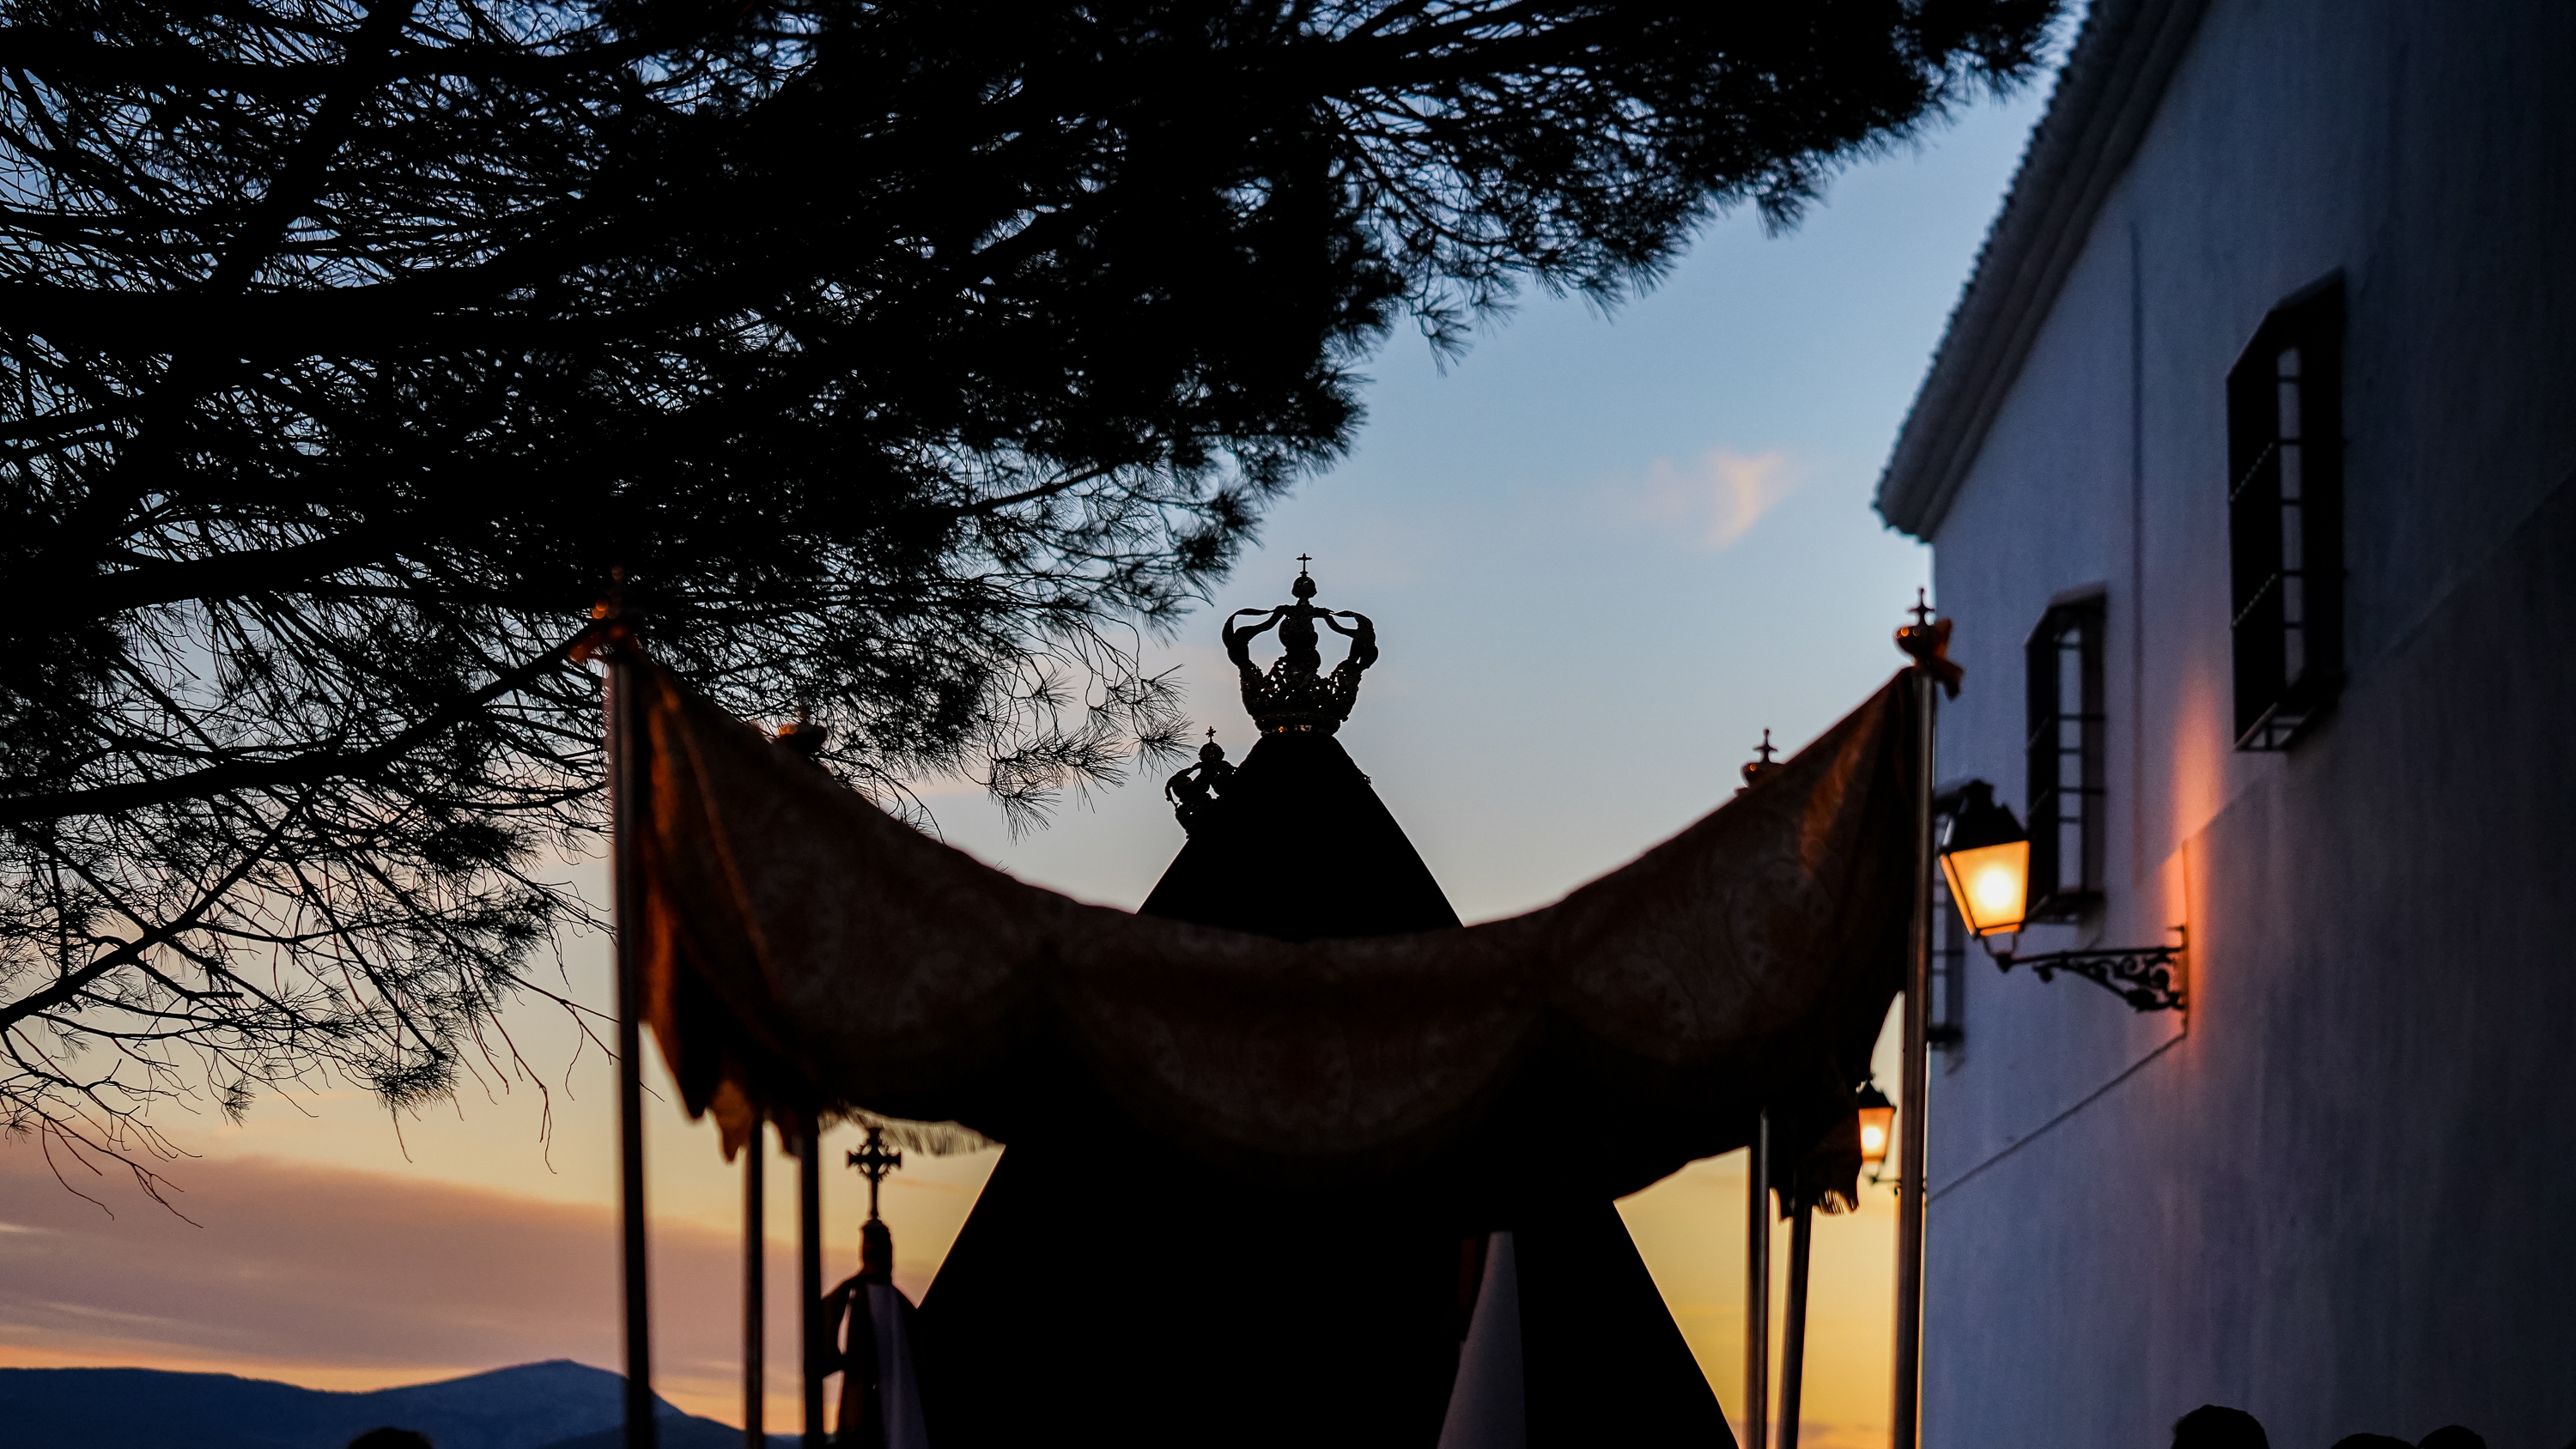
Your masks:
<svg viewBox="0 0 2576 1449"><path fill-rule="evenodd" d="M2094 0L1878 476L1888 525L1940 528L2208 3Z"/></svg>

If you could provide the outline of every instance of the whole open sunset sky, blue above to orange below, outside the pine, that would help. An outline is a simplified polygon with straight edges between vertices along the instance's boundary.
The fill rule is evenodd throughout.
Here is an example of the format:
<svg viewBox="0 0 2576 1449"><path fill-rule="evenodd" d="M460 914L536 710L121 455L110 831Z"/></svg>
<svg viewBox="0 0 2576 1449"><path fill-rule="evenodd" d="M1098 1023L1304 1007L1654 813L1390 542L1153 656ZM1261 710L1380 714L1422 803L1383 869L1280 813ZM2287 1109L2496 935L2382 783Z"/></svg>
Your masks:
<svg viewBox="0 0 2576 1449"><path fill-rule="evenodd" d="M1850 170L1780 237L1752 216L1716 224L1613 317L1530 299L1445 371L1399 335L1352 458L1280 504L1216 607L1149 656L1182 667L1198 721L1242 759L1252 726L1216 618L1283 602L1311 553L1319 602L1368 613L1383 646L1342 741L1466 919L1553 901L1716 808L1765 728L1795 746L1901 661L1888 631L1927 553L1880 528L1870 489L2043 98L1973 108ZM1159 777L1069 800L1020 842L971 790L933 782L927 803L953 844L1115 906L1182 842ZM574 996L605 1004L605 970L603 942L567 942ZM608 1068L549 1006L505 1027L484 1081L420 1120L389 1122L358 1091L265 1099L240 1127L162 1117L193 1153L167 1166L193 1225L59 1150L0 1143L0 1364L314 1387L554 1356L616 1367ZM536 1078L513 1076L513 1050ZM1893 1089L1886 1042L1880 1058ZM657 1387L737 1421L739 1168L667 1102L649 1161ZM914 1161L889 1181L914 1297L989 1166ZM791 1171L781 1158L770 1176L770 1428L793 1428ZM835 1277L855 1266L863 1204L835 1168ZM1739 1161L1623 1210L1741 1413ZM1891 1238L1886 1189L1816 1233L1811 1449L1883 1441Z"/></svg>

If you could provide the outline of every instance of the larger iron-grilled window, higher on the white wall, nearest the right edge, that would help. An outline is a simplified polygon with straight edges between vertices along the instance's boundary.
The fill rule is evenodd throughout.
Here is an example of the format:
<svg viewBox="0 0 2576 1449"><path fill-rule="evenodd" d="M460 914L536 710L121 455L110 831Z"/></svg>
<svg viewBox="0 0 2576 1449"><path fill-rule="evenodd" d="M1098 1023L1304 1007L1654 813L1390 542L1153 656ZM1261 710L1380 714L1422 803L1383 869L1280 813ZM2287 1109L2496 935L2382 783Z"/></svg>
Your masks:
<svg viewBox="0 0 2576 1449"><path fill-rule="evenodd" d="M2344 288L2272 311L2228 373L2236 749L2287 749L2344 677Z"/></svg>

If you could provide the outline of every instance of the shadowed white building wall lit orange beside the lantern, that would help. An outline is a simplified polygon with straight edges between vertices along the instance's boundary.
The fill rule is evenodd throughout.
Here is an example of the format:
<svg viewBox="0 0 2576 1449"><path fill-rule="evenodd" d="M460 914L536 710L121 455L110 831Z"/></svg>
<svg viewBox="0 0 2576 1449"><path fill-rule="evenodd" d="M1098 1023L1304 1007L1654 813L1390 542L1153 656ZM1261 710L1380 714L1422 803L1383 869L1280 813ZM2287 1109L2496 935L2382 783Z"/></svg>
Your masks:
<svg viewBox="0 0 2576 1449"><path fill-rule="evenodd" d="M2347 667L2231 749L2226 396L2347 286ZM1932 530L1942 777L2107 587L2110 898L2187 1017L1971 952L1932 1071L1924 1441L2576 1441L2576 5L2218 0Z"/></svg>

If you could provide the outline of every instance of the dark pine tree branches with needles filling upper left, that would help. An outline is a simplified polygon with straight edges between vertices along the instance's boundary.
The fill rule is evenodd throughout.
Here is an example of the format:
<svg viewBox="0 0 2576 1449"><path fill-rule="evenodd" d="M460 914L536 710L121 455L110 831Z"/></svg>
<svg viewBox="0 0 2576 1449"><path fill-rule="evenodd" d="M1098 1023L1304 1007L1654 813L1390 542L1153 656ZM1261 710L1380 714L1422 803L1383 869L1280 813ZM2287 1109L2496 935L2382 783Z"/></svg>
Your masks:
<svg viewBox="0 0 2576 1449"><path fill-rule="evenodd" d="M8 1125L515 1071L618 566L860 785L1113 780L1391 327L1793 219L2050 13L0 0Z"/></svg>

